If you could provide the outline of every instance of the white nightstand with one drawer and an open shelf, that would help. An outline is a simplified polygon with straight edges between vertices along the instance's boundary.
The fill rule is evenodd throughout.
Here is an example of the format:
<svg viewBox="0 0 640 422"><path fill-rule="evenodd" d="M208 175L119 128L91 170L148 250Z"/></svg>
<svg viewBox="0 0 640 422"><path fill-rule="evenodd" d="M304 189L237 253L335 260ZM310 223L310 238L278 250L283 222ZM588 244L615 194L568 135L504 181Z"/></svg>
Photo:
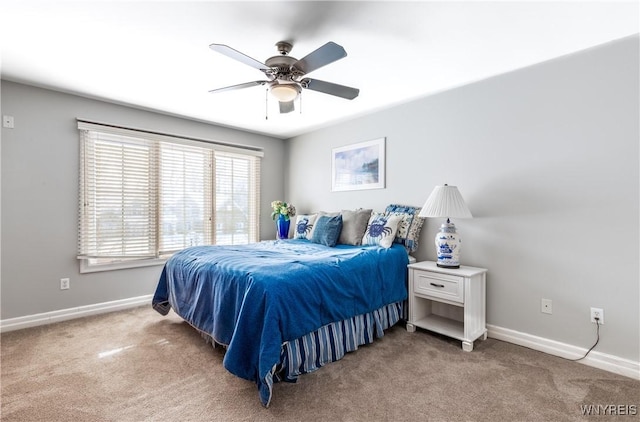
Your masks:
<svg viewBox="0 0 640 422"><path fill-rule="evenodd" d="M440 268L431 261L408 268L408 332L420 327L461 340L465 352L473 350L474 340L487 339L485 268Z"/></svg>

